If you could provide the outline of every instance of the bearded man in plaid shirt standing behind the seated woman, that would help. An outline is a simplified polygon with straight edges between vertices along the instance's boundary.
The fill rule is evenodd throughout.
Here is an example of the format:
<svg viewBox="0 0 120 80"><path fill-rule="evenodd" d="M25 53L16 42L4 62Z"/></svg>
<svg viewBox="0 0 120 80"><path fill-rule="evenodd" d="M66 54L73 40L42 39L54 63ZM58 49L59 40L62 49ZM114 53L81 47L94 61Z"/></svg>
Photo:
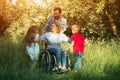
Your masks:
<svg viewBox="0 0 120 80"><path fill-rule="evenodd" d="M58 22L62 25L62 33L64 31L66 31L66 27L67 27L67 20L61 16L61 13L62 13L62 10L60 7L56 7L53 9L54 11L54 15L51 16L50 18L48 18L45 26L43 27L43 32L42 33L45 33L45 32L49 32L50 31L50 23L55 21L55 22Z"/></svg>

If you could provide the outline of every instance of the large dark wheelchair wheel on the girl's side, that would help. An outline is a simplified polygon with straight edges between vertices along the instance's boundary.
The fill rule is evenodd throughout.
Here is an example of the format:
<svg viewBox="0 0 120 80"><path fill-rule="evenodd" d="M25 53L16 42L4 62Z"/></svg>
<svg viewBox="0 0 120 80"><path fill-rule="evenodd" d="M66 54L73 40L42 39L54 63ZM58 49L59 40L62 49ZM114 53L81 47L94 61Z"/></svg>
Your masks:
<svg viewBox="0 0 120 80"><path fill-rule="evenodd" d="M45 50L41 53L39 57L39 67L46 73L50 71L51 66L51 57L50 53Z"/></svg>

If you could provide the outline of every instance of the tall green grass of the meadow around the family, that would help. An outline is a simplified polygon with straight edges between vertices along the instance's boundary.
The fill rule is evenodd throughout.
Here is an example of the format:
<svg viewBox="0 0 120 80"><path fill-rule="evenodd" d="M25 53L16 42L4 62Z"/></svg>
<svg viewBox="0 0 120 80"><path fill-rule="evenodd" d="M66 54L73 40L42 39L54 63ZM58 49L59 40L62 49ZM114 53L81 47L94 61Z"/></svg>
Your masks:
<svg viewBox="0 0 120 80"><path fill-rule="evenodd" d="M73 67L71 51L69 54ZM0 39L0 80L120 80L120 40L91 40L78 73L46 74L38 68L31 71L30 63L21 42Z"/></svg>

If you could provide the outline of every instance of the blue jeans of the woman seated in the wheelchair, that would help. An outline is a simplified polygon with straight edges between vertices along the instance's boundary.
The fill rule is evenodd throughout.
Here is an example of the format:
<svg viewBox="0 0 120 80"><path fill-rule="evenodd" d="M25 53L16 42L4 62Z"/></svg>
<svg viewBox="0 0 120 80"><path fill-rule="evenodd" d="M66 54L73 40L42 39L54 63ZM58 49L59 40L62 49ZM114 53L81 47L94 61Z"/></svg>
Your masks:
<svg viewBox="0 0 120 80"><path fill-rule="evenodd" d="M49 48L48 51L55 55L57 66L66 66L66 52L58 48Z"/></svg>

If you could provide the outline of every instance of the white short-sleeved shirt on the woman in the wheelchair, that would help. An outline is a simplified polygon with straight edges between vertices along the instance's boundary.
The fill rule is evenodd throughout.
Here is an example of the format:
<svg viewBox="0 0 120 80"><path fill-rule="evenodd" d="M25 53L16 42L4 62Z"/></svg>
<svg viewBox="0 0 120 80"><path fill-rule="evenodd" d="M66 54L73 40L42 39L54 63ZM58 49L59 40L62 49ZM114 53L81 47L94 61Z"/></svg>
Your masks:
<svg viewBox="0 0 120 80"><path fill-rule="evenodd" d="M60 43L62 41L68 42L69 38L63 34L63 33L59 33L59 34L53 34L51 32L47 32L45 34L43 34L41 36L42 40L47 40L47 48L58 48L61 49Z"/></svg>

